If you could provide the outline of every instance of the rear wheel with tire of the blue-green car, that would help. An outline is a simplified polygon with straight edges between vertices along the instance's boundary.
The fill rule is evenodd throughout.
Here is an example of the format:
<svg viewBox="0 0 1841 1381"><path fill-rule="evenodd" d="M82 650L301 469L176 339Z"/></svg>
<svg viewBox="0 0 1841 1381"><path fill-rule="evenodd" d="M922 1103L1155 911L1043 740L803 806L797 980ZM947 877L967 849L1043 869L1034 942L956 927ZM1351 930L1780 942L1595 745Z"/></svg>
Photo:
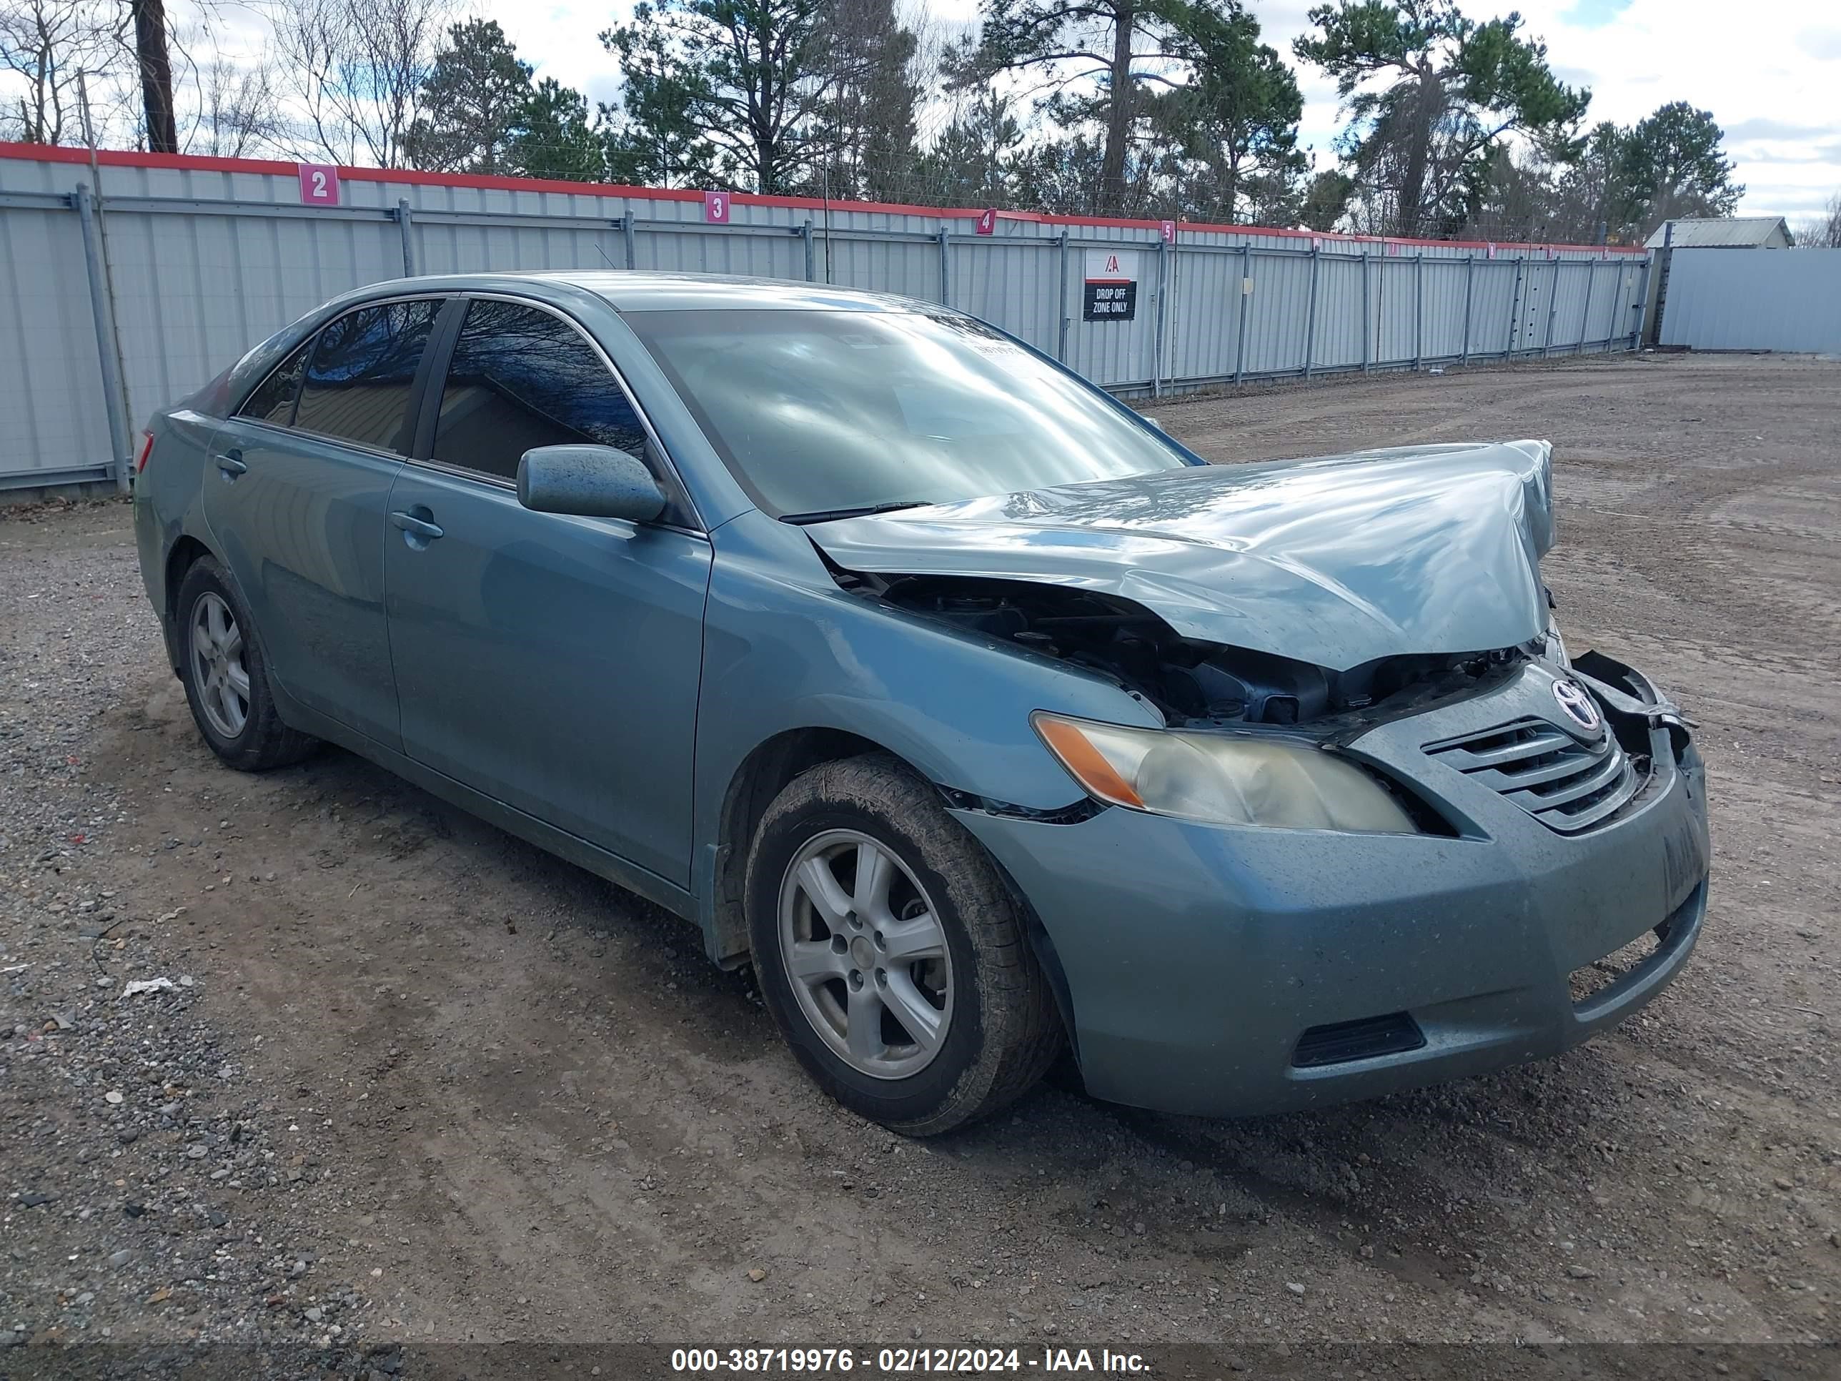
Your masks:
<svg viewBox="0 0 1841 1381"><path fill-rule="evenodd" d="M225 764L265 772L298 762L318 746L282 724L256 621L214 558L201 556L179 582L177 621L186 703Z"/></svg>

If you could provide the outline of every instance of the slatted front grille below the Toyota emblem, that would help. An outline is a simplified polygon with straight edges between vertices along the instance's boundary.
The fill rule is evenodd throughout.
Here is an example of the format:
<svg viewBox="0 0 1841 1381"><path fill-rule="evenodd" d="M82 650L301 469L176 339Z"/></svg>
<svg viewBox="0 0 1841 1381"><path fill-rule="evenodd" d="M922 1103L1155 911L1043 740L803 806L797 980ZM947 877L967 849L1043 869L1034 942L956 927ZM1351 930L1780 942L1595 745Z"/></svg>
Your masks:
<svg viewBox="0 0 1841 1381"><path fill-rule="evenodd" d="M1535 718L1445 738L1425 751L1561 834L1602 825L1642 784L1609 731L1596 744L1581 744Z"/></svg>

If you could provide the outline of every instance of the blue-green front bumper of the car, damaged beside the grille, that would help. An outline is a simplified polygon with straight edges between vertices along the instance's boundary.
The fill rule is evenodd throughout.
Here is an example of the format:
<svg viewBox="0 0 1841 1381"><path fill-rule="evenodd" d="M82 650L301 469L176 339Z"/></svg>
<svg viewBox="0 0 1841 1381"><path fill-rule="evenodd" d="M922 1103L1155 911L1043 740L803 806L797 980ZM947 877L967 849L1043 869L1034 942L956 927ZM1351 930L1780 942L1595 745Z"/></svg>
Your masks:
<svg viewBox="0 0 1841 1381"><path fill-rule="evenodd" d="M1587 656L1574 674L1638 773L1576 829L1427 751L1565 727L1537 665L1348 744L1451 836L957 810L1040 923L1088 1088L1210 1116L1311 1107L1554 1055L1655 998L1707 908L1705 773L1686 720L1638 672ZM1640 961L1583 991L1646 935Z"/></svg>

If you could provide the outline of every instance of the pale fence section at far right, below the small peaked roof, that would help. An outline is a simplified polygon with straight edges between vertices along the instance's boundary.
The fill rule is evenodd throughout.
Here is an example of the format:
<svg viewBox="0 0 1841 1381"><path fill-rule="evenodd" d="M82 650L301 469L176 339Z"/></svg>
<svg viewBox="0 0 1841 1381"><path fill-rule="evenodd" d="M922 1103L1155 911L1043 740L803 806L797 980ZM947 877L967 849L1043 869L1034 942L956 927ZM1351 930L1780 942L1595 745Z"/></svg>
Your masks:
<svg viewBox="0 0 1841 1381"><path fill-rule="evenodd" d="M1841 354L1841 249L1668 249L1661 342Z"/></svg>

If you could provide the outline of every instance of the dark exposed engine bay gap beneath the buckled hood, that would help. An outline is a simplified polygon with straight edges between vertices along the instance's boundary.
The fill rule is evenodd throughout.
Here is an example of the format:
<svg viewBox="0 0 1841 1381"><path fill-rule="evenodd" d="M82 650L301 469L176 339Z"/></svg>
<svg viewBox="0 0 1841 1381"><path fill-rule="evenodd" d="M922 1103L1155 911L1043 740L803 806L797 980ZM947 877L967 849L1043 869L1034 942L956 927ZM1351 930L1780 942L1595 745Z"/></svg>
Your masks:
<svg viewBox="0 0 1841 1381"><path fill-rule="evenodd" d="M1545 652L1545 644L1532 644L1395 656L1335 672L1182 637L1151 609L1110 593L1033 580L830 569L851 593L1117 679L1173 725L1239 722L1333 731L1349 720L1366 724L1469 694Z"/></svg>

